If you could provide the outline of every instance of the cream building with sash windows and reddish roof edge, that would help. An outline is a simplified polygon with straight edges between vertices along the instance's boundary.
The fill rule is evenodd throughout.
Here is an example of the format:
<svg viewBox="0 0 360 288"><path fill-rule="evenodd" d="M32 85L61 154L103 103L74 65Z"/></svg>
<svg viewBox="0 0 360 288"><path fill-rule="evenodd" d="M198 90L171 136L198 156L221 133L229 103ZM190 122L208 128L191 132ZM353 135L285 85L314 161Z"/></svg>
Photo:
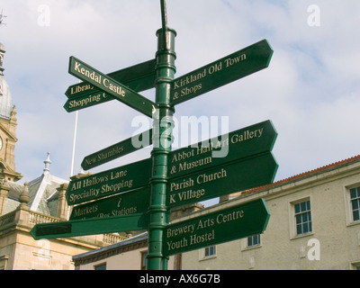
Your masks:
<svg viewBox="0 0 360 288"><path fill-rule="evenodd" d="M271 214L264 234L176 255L170 258L169 267L176 270L360 269L360 156L232 194L215 206L191 211L179 220L259 198L265 199ZM73 257L76 268L94 270L100 264L103 267L110 264L112 269L127 270L129 266L123 260L126 257L138 257L139 267L139 255L147 252L147 238L141 240L143 247L139 250L118 249L115 245ZM112 249L111 257L106 255L109 249Z"/></svg>

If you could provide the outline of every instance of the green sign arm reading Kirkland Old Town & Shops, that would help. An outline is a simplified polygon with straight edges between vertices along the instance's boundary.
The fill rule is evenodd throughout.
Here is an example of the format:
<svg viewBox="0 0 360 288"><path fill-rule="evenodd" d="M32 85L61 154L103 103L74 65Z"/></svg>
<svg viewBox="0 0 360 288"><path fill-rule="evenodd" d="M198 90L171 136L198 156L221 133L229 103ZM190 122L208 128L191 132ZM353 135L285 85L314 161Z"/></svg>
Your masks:
<svg viewBox="0 0 360 288"><path fill-rule="evenodd" d="M225 58L194 70L173 81L171 101L174 105L227 85L269 66L273 56L267 40L261 40Z"/></svg>

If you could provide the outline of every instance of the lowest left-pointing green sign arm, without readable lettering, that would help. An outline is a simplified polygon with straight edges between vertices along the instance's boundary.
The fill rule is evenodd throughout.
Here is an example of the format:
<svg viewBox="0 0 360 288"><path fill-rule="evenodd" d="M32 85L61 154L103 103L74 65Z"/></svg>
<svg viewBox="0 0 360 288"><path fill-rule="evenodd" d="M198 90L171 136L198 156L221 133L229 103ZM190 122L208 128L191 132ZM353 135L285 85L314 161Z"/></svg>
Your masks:
<svg viewBox="0 0 360 288"><path fill-rule="evenodd" d="M31 229L35 240L51 238L70 238L148 228L146 214L98 218L90 220L71 220L65 222L38 224Z"/></svg>

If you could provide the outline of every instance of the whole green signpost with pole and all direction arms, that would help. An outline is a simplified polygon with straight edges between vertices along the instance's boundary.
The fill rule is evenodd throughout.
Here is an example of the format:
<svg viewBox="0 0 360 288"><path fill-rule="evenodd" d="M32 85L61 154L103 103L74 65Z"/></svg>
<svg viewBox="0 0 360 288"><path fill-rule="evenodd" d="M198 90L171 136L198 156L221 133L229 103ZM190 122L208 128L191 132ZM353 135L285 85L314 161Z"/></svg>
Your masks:
<svg viewBox="0 0 360 288"><path fill-rule="evenodd" d="M261 199L171 225L169 211L270 184L278 167L271 152L277 137L271 121L172 151L175 105L268 67L273 50L261 40L175 79L176 32L167 27L166 1L160 4L156 58L105 75L71 57L69 73L85 82L67 89L65 105L72 112L117 99L154 121L152 130L85 157L85 170L153 144L151 157L73 177L66 198L77 206L70 220L31 230L41 239L147 229L148 270L166 270L171 255L263 233L270 215ZM138 94L154 86L155 103ZM151 140L144 144L144 138ZM143 145L134 145L134 139Z"/></svg>

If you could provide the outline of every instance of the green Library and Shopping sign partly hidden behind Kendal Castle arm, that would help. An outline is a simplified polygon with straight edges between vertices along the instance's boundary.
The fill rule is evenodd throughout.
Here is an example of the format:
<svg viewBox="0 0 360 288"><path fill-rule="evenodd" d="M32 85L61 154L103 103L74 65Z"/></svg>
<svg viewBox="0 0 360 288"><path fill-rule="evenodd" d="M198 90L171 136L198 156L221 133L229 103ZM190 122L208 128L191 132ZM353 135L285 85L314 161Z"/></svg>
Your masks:
<svg viewBox="0 0 360 288"><path fill-rule="evenodd" d="M156 60L153 59L120 71L112 72L107 76L112 77L112 79L136 92L141 92L154 87L156 79L155 67ZM69 98L64 105L67 112L75 112L115 99L110 94L103 93L94 87L94 85L84 82L69 86L65 94Z"/></svg>

